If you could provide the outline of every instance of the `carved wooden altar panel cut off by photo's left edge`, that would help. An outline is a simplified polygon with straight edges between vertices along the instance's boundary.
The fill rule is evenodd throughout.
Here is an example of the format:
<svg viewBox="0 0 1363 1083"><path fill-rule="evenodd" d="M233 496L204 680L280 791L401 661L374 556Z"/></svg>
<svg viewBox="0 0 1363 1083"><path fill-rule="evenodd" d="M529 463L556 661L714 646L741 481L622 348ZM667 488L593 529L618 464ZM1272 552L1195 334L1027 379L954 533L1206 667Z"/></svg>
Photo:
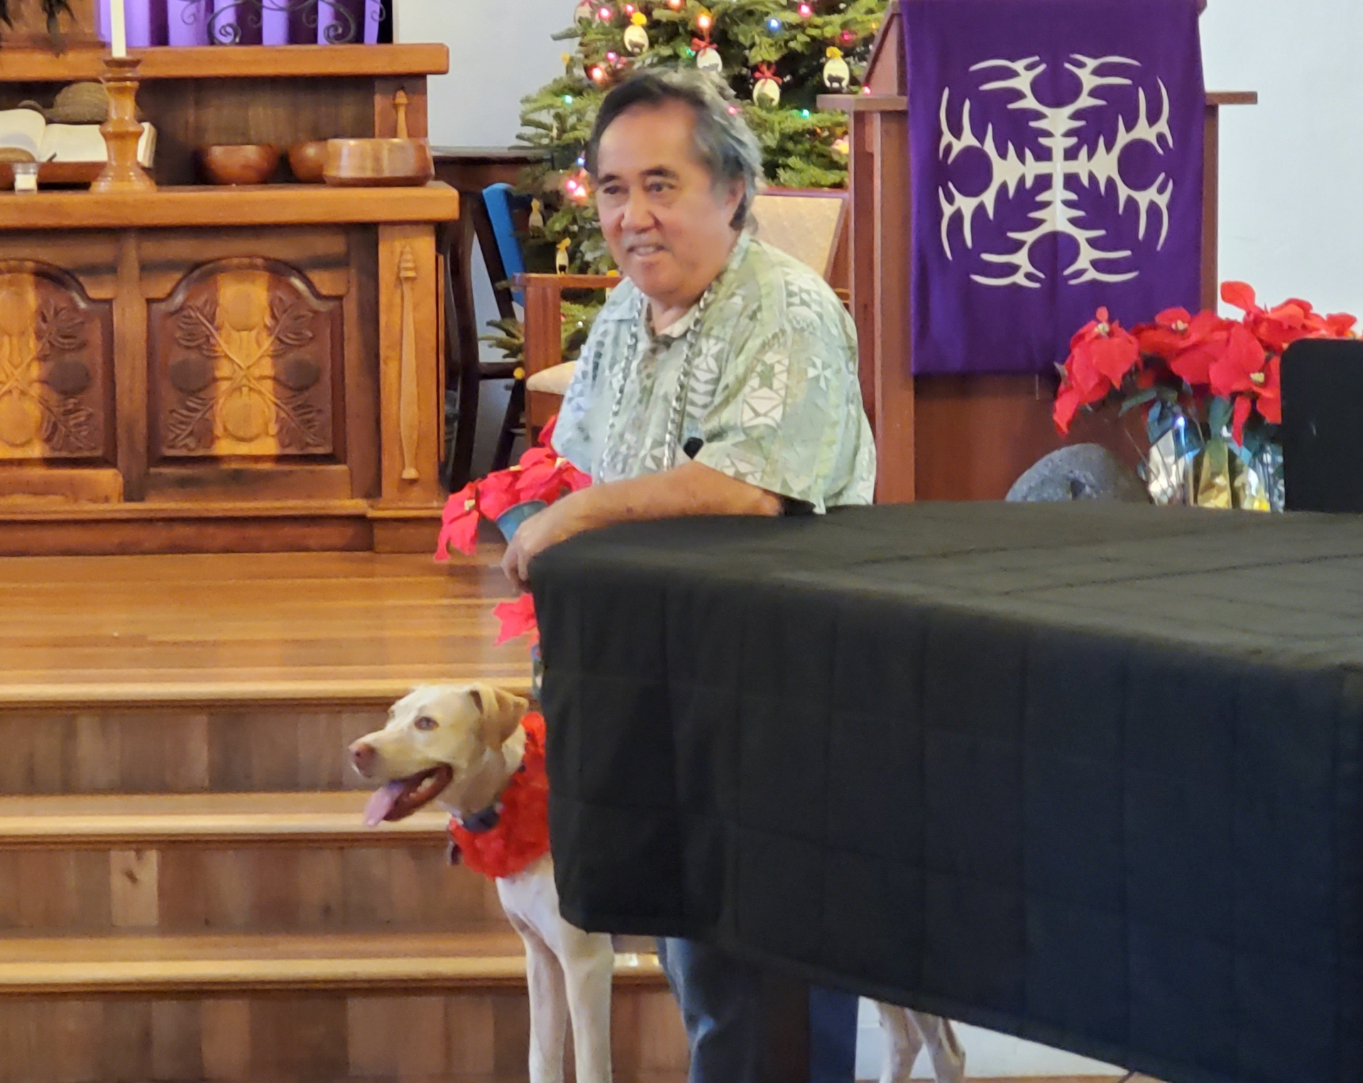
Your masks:
<svg viewBox="0 0 1363 1083"><path fill-rule="evenodd" d="M108 462L113 319L50 264L0 260L0 460Z"/></svg>

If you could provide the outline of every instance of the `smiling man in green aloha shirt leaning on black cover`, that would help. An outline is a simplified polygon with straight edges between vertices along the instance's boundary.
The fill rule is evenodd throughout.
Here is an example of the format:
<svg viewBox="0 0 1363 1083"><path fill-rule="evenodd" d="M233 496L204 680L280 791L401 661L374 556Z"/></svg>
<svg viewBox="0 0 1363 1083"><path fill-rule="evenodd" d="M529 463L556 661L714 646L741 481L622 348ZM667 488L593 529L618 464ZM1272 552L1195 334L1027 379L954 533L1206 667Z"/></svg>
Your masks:
<svg viewBox="0 0 1363 1083"><path fill-rule="evenodd" d="M502 567L522 588L537 553L593 527L871 503L855 327L823 279L747 232L761 153L724 93L698 72L646 74L601 105L587 170L626 281L553 435L594 484L515 533ZM761 971L692 941L660 955L692 1083L755 1080ZM831 1071L818 1067L821 1022L840 1046ZM811 1000L811 1079L851 1083L855 1038L855 999Z"/></svg>

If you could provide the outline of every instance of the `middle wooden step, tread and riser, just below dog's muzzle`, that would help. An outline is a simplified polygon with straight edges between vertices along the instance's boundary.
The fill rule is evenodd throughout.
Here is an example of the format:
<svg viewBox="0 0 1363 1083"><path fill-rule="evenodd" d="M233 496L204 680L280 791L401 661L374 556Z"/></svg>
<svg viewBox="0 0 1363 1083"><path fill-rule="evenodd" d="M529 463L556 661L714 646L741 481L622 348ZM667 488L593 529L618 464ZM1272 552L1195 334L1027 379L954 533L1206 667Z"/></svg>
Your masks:
<svg viewBox="0 0 1363 1083"><path fill-rule="evenodd" d="M357 793L0 798L0 932L457 932L504 924L423 811Z"/></svg>

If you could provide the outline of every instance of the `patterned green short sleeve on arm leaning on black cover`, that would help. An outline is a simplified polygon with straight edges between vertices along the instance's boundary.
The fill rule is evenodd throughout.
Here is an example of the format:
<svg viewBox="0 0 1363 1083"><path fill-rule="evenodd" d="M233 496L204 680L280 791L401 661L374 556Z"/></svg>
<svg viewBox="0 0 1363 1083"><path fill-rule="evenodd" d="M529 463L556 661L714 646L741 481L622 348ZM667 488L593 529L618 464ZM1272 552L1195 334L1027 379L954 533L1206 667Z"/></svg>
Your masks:
<svg viewBox="0 0 1363 1083"><path fill-rule="evenodd" d="M863 418L856 351L841 320L782 327L726 368L695 460L822 512Z"/></svg>

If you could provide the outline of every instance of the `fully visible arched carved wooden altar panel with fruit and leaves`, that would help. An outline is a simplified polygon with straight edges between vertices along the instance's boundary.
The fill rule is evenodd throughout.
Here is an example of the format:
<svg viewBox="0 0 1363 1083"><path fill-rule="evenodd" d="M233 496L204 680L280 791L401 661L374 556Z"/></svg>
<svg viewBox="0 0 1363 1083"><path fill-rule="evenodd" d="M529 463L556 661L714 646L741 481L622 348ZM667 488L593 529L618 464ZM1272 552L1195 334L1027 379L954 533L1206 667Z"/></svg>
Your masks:
<svg viewBox="0 0 1363 1083"><path fill-rule="evenodd" d="M288 264L198 267L149 312L153 460L330 459L342 305Z"/></svg>

